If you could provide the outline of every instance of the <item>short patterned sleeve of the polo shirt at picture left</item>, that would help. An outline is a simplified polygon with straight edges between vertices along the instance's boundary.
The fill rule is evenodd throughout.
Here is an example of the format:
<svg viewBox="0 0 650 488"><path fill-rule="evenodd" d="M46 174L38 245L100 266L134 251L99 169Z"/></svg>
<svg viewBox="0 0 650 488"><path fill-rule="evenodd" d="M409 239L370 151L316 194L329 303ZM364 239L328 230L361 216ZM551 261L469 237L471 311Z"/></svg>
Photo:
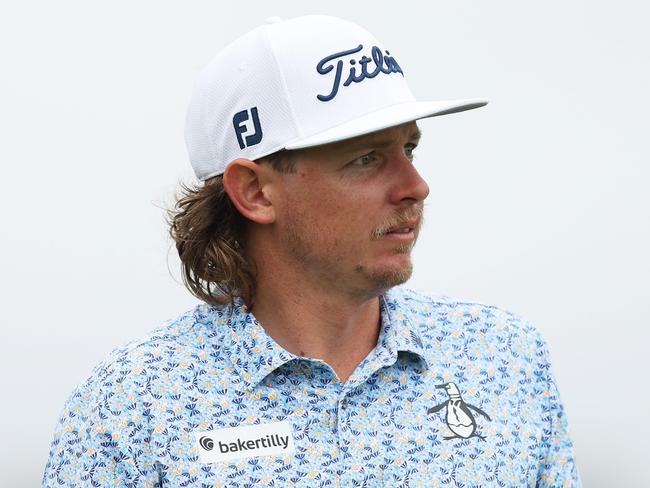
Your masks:
<svg viewBox="0 0 650 488"><path fill-rule="evenodd" d="M101 386L98 386L100 384ZM87 381L66 402L54 432L43 487L154 487L147 472L144 444L127 432L137 429L137 414L112 384ZM123 410L117 410L123 406ZM142 425L139 427L141 430Z"/></svg>

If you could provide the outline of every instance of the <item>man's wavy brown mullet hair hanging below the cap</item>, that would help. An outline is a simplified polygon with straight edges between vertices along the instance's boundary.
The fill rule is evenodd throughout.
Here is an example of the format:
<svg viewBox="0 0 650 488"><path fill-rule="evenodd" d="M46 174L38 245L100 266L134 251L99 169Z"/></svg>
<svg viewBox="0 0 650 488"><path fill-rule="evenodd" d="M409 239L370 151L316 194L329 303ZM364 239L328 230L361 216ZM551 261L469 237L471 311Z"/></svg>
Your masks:
<svg viewBox="0 0 650 488"><path fill-rule="evenodd" d="M255 162L280 173L295 171L295 151L281 150ZM180 183L176 203L167 210L169 235L181 260L183 283L194 296L213 305L255 300L255 265L246 255L249 221L230 201L223 174L203 183Z"/></svg>

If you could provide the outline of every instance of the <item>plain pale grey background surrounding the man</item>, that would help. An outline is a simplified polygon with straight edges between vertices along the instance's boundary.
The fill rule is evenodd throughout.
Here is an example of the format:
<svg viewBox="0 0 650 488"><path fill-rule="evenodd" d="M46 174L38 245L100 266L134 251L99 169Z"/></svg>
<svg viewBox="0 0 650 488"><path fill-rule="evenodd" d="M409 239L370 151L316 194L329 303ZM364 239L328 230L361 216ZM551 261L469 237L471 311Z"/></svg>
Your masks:
<svg viewBox="0 0 650 488"><path fill-rule="evenodd" d="M0 484L37 486L74 386L196 302L160 207L192 178L183 124L200 67L268 16L330 13L389 46L417 96L491 100L420 123L431 195L411 285L535 323L585 485L649 486L645 4L313 5L3 9Z"/></svg>

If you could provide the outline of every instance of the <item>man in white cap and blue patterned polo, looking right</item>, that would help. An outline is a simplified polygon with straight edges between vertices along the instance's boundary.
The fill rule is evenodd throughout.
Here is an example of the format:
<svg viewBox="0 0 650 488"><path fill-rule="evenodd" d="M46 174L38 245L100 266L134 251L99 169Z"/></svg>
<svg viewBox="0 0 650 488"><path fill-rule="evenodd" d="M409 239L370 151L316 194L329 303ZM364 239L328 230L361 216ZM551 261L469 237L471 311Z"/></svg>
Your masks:
<svg viewBox="0 0 650 488"><path fill-rule="evenodd" d="M205 303L73 393L46 486L575 486L548 352L498 308L398 285L429 189L390 50L274 19L199 77L170 214Z"/></svg>

